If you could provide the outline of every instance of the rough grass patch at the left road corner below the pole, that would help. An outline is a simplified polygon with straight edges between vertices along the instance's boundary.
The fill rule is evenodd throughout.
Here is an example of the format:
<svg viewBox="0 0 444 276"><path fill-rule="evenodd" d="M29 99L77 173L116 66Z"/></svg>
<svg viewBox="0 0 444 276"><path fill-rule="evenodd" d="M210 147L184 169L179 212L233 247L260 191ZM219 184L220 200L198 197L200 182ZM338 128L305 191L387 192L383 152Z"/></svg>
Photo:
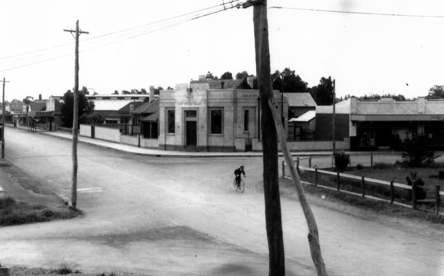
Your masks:
<svg viewBox="0 0 444 276"><path fill-rule="evenodd" d="M0 197L0 226L20 225L78 217L83 212L67 206L48 208L18 202L12 196Z"/></svg>

